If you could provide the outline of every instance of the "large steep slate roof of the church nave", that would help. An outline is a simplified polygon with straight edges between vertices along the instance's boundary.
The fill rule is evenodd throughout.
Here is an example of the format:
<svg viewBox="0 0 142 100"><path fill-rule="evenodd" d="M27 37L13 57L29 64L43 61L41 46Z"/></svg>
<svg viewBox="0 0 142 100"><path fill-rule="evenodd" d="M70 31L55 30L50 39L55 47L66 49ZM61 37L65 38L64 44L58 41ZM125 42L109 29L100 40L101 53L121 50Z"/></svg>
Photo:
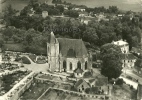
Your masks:
<svg viewBox="0 0 142 100"><path fill-rule="evenodd" d="M86 57L88 54L82 39L57 38L57 40L59 42L60 53L64 57L70 57L71 54L74 57Z"/></svg>

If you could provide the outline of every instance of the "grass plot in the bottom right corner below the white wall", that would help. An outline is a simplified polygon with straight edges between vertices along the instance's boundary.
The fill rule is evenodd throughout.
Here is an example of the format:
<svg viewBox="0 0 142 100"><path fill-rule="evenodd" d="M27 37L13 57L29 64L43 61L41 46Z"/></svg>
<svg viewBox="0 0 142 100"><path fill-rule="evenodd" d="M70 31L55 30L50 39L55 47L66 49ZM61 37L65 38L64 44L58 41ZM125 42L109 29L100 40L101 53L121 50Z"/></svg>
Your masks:
<svg viewBox="0 0 142 100"><path fill-rule="evenodd" d="M113 96L118 100L136 100L136 90L130 89L130 86L123 84L122 86L114 85Z"/></svg>

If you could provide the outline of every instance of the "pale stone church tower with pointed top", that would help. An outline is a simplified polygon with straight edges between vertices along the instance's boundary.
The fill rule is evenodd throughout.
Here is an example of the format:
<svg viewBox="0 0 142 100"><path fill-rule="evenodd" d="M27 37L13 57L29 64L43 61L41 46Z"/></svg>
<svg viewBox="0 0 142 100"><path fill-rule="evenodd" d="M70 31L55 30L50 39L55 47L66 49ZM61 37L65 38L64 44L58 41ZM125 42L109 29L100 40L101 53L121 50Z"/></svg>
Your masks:
<svg viewBox="0 0 142 100"><path fill-rule="evenodd" d="M53 32L50 33L48 39L47 56L48 56L49 70L51 72L59 71L59 42L55 38Z"/></svg>

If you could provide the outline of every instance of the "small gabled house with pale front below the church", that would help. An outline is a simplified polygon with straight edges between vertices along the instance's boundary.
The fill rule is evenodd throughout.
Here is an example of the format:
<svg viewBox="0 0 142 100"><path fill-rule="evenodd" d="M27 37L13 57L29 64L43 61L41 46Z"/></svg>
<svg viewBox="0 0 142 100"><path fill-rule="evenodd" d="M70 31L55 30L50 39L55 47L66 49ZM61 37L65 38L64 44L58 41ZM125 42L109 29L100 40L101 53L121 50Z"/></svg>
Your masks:
<svg viewBox="0 0 142 100"><path fill-rule="evenodd" d="M83 79L80 79L76 82L74 88L78 91L78 92L85 92L85 90L87 88L90 88L89 84L83 80Z"/></svg>

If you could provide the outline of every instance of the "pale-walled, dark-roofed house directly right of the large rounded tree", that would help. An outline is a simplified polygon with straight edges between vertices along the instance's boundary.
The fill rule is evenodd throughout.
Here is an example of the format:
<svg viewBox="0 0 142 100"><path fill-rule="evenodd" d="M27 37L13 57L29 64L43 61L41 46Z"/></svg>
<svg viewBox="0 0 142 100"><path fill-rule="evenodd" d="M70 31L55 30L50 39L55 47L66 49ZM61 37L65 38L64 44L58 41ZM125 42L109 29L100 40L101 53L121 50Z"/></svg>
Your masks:
<svg viewBox="0 0 142 100"><path fill-rule="evenodd" d="M122 68L134 68L136 57L132 53L121 54Z"/></svg>

